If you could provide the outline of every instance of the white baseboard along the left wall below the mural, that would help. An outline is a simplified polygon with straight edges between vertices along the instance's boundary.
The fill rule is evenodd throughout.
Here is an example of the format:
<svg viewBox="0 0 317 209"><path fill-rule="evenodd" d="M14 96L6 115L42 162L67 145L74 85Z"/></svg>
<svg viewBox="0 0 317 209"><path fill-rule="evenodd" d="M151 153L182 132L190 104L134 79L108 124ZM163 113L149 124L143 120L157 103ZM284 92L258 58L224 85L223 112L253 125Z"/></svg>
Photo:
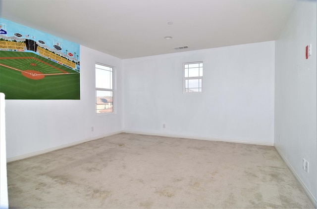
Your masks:
<svg viewBox="0 0 317 209"><path fill-rule="evenodd" d="M22 159L25 159L25 158L30 158L30 157L33 157L33 156L37 156L37 155L41 155L41 154L44 154L44 153L52 152L54 150L59 150L59 149L63 149L63 148L66 148L66 147L71 147L71 146L74 146L74 145L77 145L77 144L85 143L85 142L88 142L88 141L93 141L93 140L96 140L96 139L100 139L100 138L103 138L103 137L115 135L115 134L122 133L122 132L123 131L116 131L116 132L108 133L106 135L101 135L101 136L97 136L97 137L93 137L93 138L89 138L89 139L75 141L75 142L72 142L72 143L69 143L69 144L63 144L63 145L60 145L60 146L57 146L57 147L52 147L52 148L49 148L49 149L28 153L28 154L25 154L25 155L19 155L19 156L16 156L16 157L7 158L6 162L9 163L9 162L13 162L13 161L22 160Z"/></svg>

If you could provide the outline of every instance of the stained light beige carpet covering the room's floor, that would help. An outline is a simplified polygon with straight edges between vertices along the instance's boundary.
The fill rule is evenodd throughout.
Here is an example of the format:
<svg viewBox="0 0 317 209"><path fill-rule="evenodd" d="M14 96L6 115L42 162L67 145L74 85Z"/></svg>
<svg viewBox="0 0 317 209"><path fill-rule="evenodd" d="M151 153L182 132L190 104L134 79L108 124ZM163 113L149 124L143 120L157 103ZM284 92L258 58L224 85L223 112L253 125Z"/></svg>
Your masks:
<svg viewBox="0 0 317 209"><path fill-rule="evenodd" d="M270 146L121 133L7 175L10 208L313 208Z"/></svg>

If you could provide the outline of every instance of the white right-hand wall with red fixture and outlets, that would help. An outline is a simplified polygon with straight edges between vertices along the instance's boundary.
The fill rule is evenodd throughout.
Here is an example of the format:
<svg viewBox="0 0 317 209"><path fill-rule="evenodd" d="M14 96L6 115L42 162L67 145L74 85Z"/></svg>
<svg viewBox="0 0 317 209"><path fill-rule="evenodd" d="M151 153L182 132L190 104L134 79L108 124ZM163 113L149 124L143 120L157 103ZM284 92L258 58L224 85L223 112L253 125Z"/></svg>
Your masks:
<svg viewBox="0 0 317 209"><path fill-rule="evenodd" d="M316 1L298 1L275 43L275 146L317 199ZM312 56L305 46L312 43ZM302 159L309 161L309 173Z"/></svg>

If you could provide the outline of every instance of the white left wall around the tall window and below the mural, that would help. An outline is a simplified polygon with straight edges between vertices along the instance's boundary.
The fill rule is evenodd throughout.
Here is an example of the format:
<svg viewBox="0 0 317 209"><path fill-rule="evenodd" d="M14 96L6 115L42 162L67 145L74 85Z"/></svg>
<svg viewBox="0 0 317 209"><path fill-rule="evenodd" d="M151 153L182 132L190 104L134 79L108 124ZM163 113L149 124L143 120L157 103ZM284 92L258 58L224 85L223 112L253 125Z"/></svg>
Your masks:
<svg viewBox="0 0 317 209"><path fill-rule="evenodd" d="M7 158L122 130L122 60L84 46L80 53L80 100L6 100ZM96 62L115 67L117 114L95 114Z"/></svg>

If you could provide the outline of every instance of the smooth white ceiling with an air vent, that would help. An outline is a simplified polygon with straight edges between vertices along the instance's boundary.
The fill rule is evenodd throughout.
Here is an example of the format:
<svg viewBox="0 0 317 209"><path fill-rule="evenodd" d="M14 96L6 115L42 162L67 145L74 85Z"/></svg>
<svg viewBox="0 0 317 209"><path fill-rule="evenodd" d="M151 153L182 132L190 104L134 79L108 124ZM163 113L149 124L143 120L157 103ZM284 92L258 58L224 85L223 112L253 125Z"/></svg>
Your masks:
<svg viewBox="0 0 317 209"><path fill-rule="evenodd" d="M127 59L276 40L294 5L295 0L0 0L0 17ZM174 49L179 46L188 48Z"/></svg>

